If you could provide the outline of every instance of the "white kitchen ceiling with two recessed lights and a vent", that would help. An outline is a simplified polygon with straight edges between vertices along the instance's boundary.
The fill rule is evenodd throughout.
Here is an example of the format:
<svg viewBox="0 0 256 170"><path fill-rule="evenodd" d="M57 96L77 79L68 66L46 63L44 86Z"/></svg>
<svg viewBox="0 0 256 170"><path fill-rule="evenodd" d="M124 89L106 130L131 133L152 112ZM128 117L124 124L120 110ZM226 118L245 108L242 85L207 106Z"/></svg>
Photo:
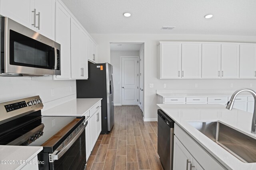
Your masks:
<svg viewBox="0 0 256 170"><path fill-rule="evenodd" d="M89 33L256 36L256 0L62 1ZM132 16L125 18L124 12ZM207 20L206 14L214 16Z"/></svg>

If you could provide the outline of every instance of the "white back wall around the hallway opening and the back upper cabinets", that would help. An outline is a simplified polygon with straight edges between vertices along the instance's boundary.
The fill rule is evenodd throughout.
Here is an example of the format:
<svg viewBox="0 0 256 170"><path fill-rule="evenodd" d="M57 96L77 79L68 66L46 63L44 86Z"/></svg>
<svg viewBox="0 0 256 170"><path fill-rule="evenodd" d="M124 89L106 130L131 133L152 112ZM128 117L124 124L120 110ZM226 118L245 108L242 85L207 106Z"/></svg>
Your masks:
<svg viewBox="0 0 256 170"><path fill-rule="evenodd" d="M163 89L163 83L167 84L166 89L232 89L249 87L252 83L256 87L256 80L245 79L194 79L194 80L160 80L157 78L157 44L158 41L222 41L222 42L248 42L256 43L254 36L231 36L231 35L172 35L172 34L91 34L98 43L98 62L110 62L110 42L140 42L144 44L144 118L145 120L156 120L157 98L156 90ZM154 88L149 88L153 83Z"/></svg>

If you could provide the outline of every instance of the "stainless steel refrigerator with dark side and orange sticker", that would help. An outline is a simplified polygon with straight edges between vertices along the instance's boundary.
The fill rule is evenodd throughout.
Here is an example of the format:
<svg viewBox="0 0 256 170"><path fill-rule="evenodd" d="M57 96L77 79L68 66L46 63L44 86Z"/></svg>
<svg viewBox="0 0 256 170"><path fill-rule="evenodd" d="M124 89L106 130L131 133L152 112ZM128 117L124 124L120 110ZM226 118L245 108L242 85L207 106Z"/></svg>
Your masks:
<svg viewBox="0 0 256 170"><path fill-rule="evenodd" d="M76 80L77 98L102 98L101 133L114 125L113 67L109 63L88 64L88 80Z"/></svg>

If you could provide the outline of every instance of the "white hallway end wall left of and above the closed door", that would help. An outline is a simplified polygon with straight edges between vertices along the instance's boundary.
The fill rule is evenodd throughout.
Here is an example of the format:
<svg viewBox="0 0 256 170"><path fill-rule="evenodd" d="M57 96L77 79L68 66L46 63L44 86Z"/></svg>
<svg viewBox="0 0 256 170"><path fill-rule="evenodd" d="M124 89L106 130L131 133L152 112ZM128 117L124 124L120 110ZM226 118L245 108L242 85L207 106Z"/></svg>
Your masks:
<svg viewBox="0 0 256 170"><path fill-rule="evenodd" d="M139 56L139 51L110 51L110 63L113 66L114 105L122 104L121 56Z"/></svg>

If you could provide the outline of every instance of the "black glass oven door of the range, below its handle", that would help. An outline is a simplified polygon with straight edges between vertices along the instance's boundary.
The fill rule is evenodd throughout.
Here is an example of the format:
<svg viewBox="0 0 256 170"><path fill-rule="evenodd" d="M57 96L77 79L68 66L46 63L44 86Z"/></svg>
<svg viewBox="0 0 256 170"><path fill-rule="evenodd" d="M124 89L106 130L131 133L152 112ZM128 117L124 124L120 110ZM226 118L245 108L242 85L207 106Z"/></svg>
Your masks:
<svg viewBox="0 0 256 170"><path fill-rule="evenodd" d="M52 163L54 170L84 170L86 164L85 129L76 142Z"/></svg>

